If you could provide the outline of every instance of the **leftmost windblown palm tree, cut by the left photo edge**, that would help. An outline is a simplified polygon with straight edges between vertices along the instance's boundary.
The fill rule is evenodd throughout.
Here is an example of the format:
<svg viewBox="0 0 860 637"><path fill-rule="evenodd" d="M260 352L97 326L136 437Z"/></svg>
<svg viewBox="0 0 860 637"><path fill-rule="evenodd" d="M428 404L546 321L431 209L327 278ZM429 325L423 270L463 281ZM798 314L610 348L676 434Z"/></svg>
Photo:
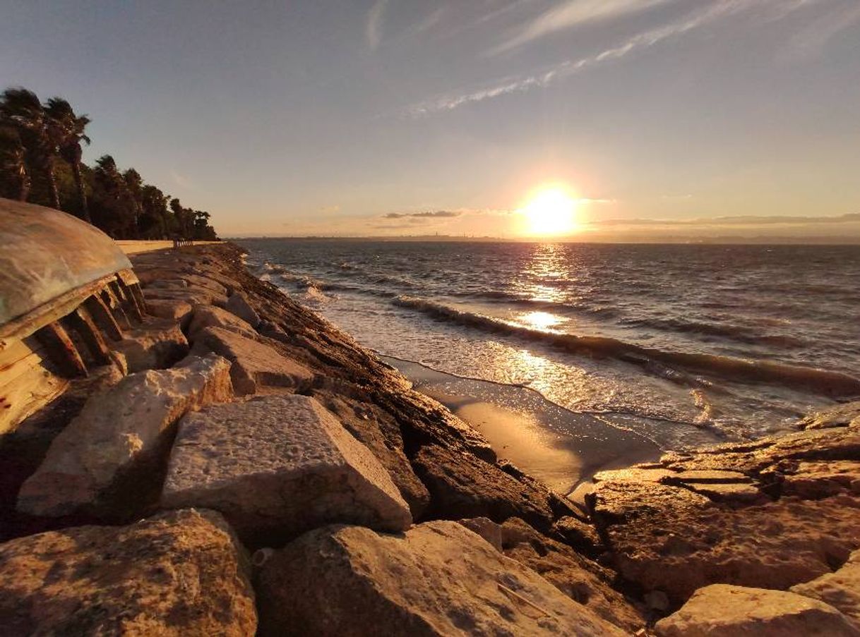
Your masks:
<svg viewBox="0 0 860 637"><path fill-rule="evenodd" d="M0 96L0 115L15 126L30 159L30 165L44 175L51 205L59 210L57 180L53 173L57 146L52 142L45 108L39 98L28 89L6 89Z"/></svg>

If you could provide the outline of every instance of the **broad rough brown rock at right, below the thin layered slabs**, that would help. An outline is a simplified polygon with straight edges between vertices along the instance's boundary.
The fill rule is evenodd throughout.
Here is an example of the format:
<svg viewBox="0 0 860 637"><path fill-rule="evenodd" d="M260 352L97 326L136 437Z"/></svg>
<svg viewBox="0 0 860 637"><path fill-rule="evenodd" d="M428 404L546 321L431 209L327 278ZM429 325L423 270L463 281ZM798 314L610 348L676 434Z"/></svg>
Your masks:
<svg viewBox="0 0 860 637"><path fill-rule="evenodd" d="M738 507L681 487L608 482L588 501L618 572L673 603L714 583L786 589L860 545L860 499L846 495Z"/></svg>

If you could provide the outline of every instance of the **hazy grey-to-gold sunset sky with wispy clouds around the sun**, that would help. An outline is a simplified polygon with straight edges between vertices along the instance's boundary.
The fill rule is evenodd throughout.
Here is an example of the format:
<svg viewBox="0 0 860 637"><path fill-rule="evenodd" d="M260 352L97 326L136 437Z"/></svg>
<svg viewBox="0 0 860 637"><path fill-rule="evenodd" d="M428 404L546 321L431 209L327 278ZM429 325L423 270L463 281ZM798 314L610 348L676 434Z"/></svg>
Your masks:
<svg viewBox="0 0 860 637"><path fill-rule="evenodd" d="M860 240L860 0L0 0L0 83L222 236ZM552 212L552 211L550 211ZM563 224L562 224L563 225Z"/></svg>

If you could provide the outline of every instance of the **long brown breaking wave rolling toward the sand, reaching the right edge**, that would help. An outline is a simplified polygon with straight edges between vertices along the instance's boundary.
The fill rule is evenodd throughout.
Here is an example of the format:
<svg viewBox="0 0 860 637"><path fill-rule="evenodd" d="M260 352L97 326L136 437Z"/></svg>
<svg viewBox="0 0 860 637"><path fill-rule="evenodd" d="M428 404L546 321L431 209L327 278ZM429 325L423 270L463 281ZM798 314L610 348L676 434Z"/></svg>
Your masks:
<svg viewBox="0 0 860 637"><path fill-rule="evenodd" d="M544 332L417 297L400 296L393 299L393 303L445 321L541 342L559 347L566 352L617 358L630 364L640 365L647 371L666 377L668 380L694 386L701 386L703 382L686 374L685 371L753 383L778 383L793 389L814 390L834 398L860 395L860 380L839 371L715 354L670 352L638 346L606 336ZM681 370L678 369L679 367Z"/></svg>

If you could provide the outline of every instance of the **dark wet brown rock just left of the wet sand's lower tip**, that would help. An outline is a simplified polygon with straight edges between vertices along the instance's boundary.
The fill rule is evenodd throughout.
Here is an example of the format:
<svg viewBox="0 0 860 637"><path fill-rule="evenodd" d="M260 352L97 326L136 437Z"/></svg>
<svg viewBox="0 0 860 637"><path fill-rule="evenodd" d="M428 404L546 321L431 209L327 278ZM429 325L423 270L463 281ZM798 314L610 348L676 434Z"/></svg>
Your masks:
<svg viewBox="0 0 860 637"><path fill-rule="evenodd" d="M428 444L412 459L430 492L433 518L523 518L540 529L552 525L548 492L507 475L496 465L460 450Z"/></svg>

